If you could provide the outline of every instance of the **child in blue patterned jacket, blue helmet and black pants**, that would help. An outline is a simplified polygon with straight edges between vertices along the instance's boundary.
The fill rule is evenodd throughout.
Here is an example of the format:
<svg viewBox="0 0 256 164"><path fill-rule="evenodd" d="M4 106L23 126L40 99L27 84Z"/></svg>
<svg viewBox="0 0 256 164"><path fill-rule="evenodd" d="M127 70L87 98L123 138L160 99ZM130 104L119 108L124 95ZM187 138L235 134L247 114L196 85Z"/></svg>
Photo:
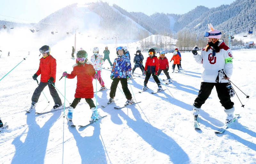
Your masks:
<svg viewBox="0 0 256 164"><path fill-rule="evenodd" d="M131 62L128 56L124 55L124 53L125 50L123 46L119 46L116 48L117 58L114 60L113 68L110 75L110 78L113 80L113 82L111 83L110 87L110 98L108 104L114 101L114 97L116 96L116 88L119 81L121 82L124 95L127 98L125 105L134 103L132 99L132 94L128 89L127 85L127 80L131 78Z"/></svg>

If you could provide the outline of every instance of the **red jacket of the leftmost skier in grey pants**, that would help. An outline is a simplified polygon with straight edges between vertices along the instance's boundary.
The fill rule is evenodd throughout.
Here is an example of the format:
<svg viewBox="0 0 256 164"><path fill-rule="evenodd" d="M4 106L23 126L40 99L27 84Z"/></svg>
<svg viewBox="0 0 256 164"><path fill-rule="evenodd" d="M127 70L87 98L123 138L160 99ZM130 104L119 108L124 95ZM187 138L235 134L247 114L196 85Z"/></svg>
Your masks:
<svg viewBox="0 0 256 164"><path fill-rule="evenodd" d="M41 58L39 63L39 68L36 72L36 75L41 74L40 82L48 82L50 77L56 79L56 59L49 54L46 58Z"/></svg>

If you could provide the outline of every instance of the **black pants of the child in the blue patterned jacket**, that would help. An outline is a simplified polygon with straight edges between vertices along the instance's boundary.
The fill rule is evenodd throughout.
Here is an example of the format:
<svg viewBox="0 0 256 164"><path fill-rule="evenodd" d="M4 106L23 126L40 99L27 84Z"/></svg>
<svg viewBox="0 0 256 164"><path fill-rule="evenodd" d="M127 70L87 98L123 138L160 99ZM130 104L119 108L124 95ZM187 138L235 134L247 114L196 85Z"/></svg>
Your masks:
<svg viewBox="0 0 256 164"><path fill-rule="evenodd" d="M113 82L111 83L111 87L110 87L109 96L111 98L114 98L116 96L116 88L117 88L119 81L121 82L122 89L124 91L124 95L125 95L126 99L132 99L132 94L131 94L130 90L128 89L128 84L127 84L126 78L114 78L113 79Z"/></svg>

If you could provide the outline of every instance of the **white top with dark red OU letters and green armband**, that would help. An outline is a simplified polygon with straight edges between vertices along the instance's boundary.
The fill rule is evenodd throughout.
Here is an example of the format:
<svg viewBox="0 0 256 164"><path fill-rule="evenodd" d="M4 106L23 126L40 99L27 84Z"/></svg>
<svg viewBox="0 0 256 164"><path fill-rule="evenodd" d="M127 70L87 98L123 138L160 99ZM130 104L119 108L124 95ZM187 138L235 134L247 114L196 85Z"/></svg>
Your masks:
<svg viewBox="0 0 256 164"><path fill-rule="evenodd" d="M219 82L228 82L224 79L222 75L218 73L219 70L224 69L227 76L230 78L233 72L233 55L228 46L225 45L223 41L220 41L218 44L220 47L220 52L215 53L215 56L212 56L212 48L205 51L205 48L201 51L201 55L194 55L194 58L197 63L203 64L204 72L202 73L201 79L202 82L215 82L216 78L219 75Z"/></svg>

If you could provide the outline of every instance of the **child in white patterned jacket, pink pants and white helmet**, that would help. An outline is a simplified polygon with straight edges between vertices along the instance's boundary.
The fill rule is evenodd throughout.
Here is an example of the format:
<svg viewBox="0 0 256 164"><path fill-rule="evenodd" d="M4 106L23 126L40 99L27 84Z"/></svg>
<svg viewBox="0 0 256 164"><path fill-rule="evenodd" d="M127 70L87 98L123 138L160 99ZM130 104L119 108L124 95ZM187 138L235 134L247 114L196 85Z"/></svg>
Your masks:
<svg viewBox="0 0 256 164"><path fill-rule="evenodd" d="M97 80L100 82L100 85L101 85L101 88L100 90L103 90L103 89L106 89L105 85L104 85L104 82L100 76L100 73L101 73L101 68L102 68L102 62L103 59L102 59L102 55L99 54L99 48L98 47L94 47L93 48L93 55L91 57L91 62L92 62L92 65L93 65L93 68L97 71L97 74L99 75Z"/></svg>

